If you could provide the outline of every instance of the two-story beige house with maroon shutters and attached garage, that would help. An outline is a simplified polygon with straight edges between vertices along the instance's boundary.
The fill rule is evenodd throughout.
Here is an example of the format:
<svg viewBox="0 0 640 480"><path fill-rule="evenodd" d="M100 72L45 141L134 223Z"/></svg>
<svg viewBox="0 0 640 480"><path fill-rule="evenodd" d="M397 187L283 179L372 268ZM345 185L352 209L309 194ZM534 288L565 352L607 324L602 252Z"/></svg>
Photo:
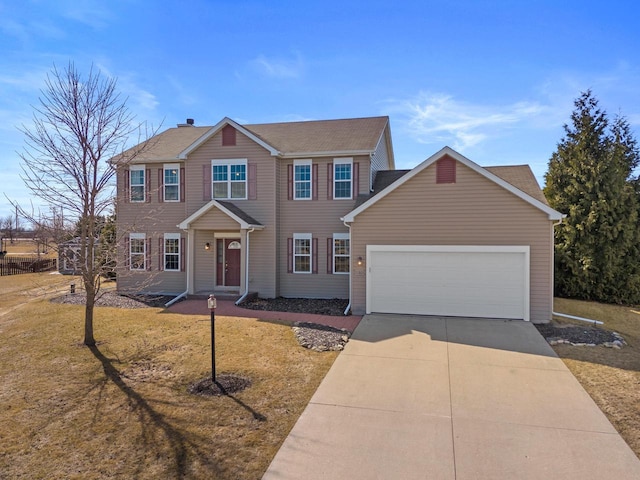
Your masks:
<svg viewBox="0 0 640 480"><path fill-rule="evenodd" d="M387 117L187 121L141 146L114 160L121 291L551 318L562 216L527 166L444 148L397 171Z"/></svg>

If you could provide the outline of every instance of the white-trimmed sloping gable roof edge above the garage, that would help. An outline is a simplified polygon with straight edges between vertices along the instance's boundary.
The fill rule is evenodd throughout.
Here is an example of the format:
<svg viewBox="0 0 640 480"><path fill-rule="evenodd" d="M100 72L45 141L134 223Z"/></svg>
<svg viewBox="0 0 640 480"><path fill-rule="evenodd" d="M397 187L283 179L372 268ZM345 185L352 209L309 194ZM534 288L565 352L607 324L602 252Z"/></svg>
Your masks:
<svg viewBox="0 0 640 480"><path fill-rule="evenodd" d="M458 152L456 152L452 148L444 147L443 149L441 149L440 151L436 152L431 157L427 158L420 165L416 166L413 170L409 171L408 173L406 173L405 175L401 176L396 181L394 181L393 183L388 185L386 188L384 188L378 194L371 196L367 201L363 202L361 205L359 205L354 210L352 210L347 215L345 215L342 218L342 220L345 221L345 222L353 222L355 220L355 217L358 214L360 214L361 212L363 212L364 210L369 208L371 205L373 205L376 202L378 202L381 199L383 199L389 193L393 192L395 189L397 189L400 186L402 186L405 182L409 181L411 178L413 178L414 176L418 175L420 172L422 172L423 170L425 170L426 168L428 168L429 166L431 166L432 164L434 164L435 162L437 162L439 159L443 158L444 156L452 157L454 160L462 163L463 165L467 166L468 168L470 168L471 170L475 171L476 173L482 175L483 177L487 178L488 180L490 180L490 181L496 183L497 185L501 186L502 188L508 190L509 192L513 193L514 195L516 195L520 199L524 200L525 202L529 203L533 207L543 211L544 213L547 214L547 216L549 217L549 220L561 220L563 218L563 215L560 212L558 212L558 211L554 210L553 208L551 208L546 203L546 201L542 201L541 199L535 198L532 194L529 194L529 193L521 190L520 188L517 188L512 183L509 183L505 179L503 179L500 176L496 175L498 170L495 170L496 173L493 173L489 169L483 168L480 165L476 164L475 162L472 162L471 160L469 160L465 156L459 154ZM501 172L504 173L505 170L502 170ZM512 180L514 178L516 178L516 175L512 175ZM533 181L535 182L535 177L533 178ZM535 182L535 184L537 186L537 182ZM540 189L539 186L537 188L538 188L538 190ZM528 189L532 190L531 184L529 184ZM540 195L542 195L542 192L540 192Z"/></svg>

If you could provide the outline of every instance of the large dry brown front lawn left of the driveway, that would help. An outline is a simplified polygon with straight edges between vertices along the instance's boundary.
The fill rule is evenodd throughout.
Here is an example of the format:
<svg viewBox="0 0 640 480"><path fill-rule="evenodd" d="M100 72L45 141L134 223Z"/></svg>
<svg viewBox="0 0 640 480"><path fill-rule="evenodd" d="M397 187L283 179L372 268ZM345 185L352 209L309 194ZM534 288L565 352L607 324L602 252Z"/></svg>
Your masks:
<svg viewBox="0 0 640 480"><path fill-rule="evenodd" d="M336 357L218 317L218 373L253 385L204 398L187 387L211 371L208 316L97 308L89 349L82 315L39 299L0 316L0 478L260 478Z"/></svg>

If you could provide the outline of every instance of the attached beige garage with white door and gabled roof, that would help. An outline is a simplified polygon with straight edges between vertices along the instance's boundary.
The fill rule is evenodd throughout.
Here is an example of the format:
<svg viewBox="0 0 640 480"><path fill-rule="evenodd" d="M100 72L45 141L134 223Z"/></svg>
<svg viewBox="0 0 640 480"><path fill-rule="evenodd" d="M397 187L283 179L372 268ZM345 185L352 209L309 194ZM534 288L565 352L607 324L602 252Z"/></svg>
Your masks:
<svg viewBox="0 0 640 480"><path fill-rule="evenodd" d="M483 168L445 147L412 170L377 172L342 218L351 311L549 322L562 218L526 165Z"/></svg>

